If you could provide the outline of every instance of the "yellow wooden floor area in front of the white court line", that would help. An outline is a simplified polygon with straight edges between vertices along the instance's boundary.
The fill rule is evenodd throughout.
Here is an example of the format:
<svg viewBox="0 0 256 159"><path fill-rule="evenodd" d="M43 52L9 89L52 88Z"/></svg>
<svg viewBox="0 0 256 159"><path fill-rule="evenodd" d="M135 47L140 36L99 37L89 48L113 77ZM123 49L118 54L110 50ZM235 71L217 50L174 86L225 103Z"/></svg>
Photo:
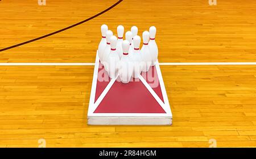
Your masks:
<svg viewBox="0 0 256 159"><path fill-rule="evenodd" d="M1 147L255 147L254 66L161 66L172 126L88 126L93 66L1 66Z"/></svg>

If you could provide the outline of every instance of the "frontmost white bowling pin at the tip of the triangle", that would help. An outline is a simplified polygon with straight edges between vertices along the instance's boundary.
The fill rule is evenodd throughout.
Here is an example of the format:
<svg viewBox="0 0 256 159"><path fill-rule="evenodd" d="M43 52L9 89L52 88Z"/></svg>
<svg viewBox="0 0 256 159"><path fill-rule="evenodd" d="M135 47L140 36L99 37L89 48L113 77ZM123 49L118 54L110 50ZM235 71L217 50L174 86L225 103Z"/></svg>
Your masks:
<svg viewBox="0 0 256 159"><path fill-rule="evenodd" d="M122 42L123 55L118 65L118 74L122 83L129 83L133 74L133 62L129 55L130 42L124 40Z"/></svg>

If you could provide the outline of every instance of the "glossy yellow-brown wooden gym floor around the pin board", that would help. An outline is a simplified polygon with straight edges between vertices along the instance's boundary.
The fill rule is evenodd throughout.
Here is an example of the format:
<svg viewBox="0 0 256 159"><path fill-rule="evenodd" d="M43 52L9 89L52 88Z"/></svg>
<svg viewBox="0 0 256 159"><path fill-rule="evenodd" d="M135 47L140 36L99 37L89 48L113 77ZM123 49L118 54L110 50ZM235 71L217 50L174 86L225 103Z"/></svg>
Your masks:
<svg viewBox="0 0 256 159"><path fill-rule="evenodd" d="M0 1L0 49L55 32L117 0ZM256 2L124 0L1 63L94 62L100 25L157 30L159 62L256 62ZM116 34L116 33L115 33ZM93 66L0 66L0 147L256 147L255 65L161 66L172 126L88 126Z"/></svg>

